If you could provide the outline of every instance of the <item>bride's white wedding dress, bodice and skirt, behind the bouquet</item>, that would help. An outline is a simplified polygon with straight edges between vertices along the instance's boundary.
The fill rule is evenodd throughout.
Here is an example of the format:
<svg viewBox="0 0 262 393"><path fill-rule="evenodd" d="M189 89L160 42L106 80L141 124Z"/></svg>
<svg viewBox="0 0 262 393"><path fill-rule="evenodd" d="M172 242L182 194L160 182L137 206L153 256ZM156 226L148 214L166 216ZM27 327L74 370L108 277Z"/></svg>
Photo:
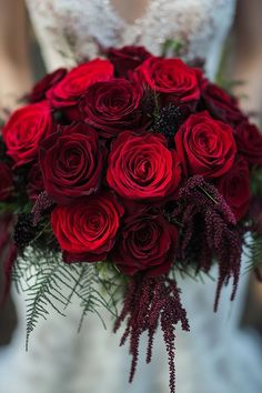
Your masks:
<svg viewBox="0 0 262 393"><path fill-rule="evenodd" d="M28 0L32 24L47 69L72 67L100 54L101 47L139 44L155 54L165 40L182 43L182 56L205 60L214 79L224 39L233 21L235 0L148 0L143 14L128 23L110 0ZM243 261L244 262L244 261ZM215 273L214 273L215 274ZM213 314L215 283L180 280L191 332L177 334L178 393L261 393L262 346L239 329L246 275L233 303L223 292ZM128 384L128 349L120 335L89 318L77 334L79 309L63 319L54 313L40 322L24 352L24 300L18 300L20 325L13 343L0 356L1 393L165 393L168 362L164 344L155 340L151 365L142 356Z"/></svg>

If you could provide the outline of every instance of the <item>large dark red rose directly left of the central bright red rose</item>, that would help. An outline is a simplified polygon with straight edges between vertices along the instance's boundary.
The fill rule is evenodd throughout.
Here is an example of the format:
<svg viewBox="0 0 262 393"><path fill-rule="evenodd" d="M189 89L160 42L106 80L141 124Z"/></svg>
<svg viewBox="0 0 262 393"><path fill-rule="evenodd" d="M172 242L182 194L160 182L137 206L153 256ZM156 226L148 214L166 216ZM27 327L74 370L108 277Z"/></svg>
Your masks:
<svg viewBox="0 0 262 393"><path fill-rule="evenodd" d="M40 147L44 190L60 204L97 192L103 157L93 129L82 123L64 127Z"/></svg>

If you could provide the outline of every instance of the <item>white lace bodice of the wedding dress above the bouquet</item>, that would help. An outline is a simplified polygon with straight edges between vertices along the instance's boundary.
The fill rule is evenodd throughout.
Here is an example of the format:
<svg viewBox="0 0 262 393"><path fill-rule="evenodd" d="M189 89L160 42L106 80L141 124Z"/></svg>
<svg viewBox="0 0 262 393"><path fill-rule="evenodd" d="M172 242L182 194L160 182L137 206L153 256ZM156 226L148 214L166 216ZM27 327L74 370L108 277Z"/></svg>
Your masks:
<svg viewBox="0 0 262 393"><path fill-rule="evenodd" d="M211 78L235 6L235 0L148 0L142 16L129 23L110 0L27 2L49 70L94 58L111 46L140 44L159 56L171 39L184 58L204 59Z"/></svg>

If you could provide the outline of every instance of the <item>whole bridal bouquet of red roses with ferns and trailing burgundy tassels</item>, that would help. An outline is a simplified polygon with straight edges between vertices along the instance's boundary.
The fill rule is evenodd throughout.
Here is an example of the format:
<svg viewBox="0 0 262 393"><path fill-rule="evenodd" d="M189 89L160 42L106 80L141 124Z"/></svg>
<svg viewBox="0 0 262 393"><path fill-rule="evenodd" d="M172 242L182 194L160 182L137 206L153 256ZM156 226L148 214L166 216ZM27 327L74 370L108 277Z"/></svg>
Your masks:
<svg viewBox="0 0 262 393"><path fill-rule="evenodd" d="M218 265L216 310L248 232L260 262L258 128L200 68L125 47L46 75L1 135L4 293L27 283L28 334L48 305L103 305L114 331L127 321L132 381L140 336L150 362L160 325L174 392L175 326L189 330L177 276Z"/></svg>

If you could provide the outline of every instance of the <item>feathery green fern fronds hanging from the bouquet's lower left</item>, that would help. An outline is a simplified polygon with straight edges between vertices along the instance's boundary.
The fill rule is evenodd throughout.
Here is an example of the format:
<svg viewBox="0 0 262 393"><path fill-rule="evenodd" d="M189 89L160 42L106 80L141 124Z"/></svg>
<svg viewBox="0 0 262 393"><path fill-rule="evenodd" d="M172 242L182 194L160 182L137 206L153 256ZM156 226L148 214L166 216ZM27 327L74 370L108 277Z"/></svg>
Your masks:
<svg viewBox="0 0 262 393"><path fill-rule="evenodd" d="M27 294L27 349L38 321L46 320L51 309L64 316L77 298L82 310L80 330L89 312L101 319L100 310L105 308L117 316L124 288L124 280L111 263L66 264L61 253L36 246L27 248L18 259L13 281L18 291Z"/></svg>

